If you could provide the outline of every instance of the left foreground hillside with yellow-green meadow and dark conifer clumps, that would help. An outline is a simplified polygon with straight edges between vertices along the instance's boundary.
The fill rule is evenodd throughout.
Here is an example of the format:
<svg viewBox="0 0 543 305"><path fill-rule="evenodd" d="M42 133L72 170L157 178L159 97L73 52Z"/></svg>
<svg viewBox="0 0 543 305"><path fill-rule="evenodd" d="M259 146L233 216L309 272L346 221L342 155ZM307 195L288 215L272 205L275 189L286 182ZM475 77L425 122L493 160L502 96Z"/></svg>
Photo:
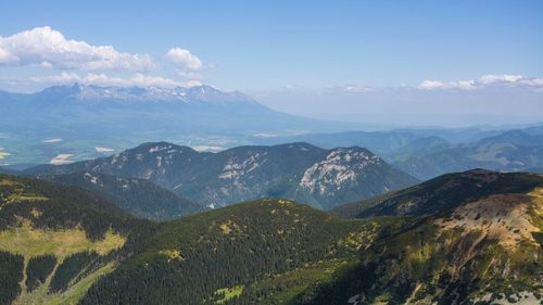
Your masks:
<svg viewBox="0 0 543 305"><path fill-rule="evenodd" d="M150 229L90 192L2 175L0 304L77 303Z"/></svg>

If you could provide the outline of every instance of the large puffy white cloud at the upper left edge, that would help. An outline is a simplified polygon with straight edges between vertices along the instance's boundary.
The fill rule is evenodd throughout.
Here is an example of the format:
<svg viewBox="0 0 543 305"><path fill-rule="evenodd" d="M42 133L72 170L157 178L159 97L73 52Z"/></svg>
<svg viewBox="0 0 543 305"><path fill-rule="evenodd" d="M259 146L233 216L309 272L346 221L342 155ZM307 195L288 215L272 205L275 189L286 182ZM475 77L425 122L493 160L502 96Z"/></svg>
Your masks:
<svg viewBox="0 0 543 305"><path fill-rule="evenodd" d="M131 54L111 46L68 40L49 26L0 36L0 64L89 71L147 71L155 67L148 54Z"/></svg>

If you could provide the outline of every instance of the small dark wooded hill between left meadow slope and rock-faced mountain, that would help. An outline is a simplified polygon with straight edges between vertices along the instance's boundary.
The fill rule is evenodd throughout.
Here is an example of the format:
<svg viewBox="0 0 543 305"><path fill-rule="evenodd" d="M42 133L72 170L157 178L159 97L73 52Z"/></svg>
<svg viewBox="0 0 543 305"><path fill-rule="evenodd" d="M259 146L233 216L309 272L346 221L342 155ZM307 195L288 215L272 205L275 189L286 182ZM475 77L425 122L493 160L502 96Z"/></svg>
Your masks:
<svg viewBox="0 0 543 305"><path fill-rule="evenodd" d="M88 171L42 178L92 191L136 217L171 220L202 211L197 204L149 180Z"/></svg>

